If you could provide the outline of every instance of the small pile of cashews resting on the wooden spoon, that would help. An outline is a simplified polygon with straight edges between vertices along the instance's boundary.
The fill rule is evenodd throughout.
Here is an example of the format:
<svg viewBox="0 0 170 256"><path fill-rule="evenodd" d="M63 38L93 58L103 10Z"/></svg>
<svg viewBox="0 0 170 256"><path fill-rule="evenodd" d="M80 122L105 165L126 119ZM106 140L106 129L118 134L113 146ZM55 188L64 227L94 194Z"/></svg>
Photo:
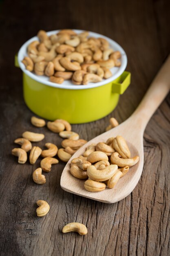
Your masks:
<svg viewBox="0 0 170 256"><path fill-rule="evenodd" d="M78 179L86 179L84 188L87 191L99 192L106 189L106 185L113 189L138 161L139 156L131 158L125 139L118 135L106 143L89 145L83 155L72 159L70 172Z"/></svg>

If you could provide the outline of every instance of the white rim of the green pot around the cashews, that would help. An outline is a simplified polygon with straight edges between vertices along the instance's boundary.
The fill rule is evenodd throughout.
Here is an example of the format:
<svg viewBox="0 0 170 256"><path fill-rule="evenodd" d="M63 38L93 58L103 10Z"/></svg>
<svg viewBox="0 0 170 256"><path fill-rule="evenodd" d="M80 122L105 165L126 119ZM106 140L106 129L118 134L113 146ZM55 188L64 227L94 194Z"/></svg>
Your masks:
<svg viewBox="0 0 170 256"><path fill-rule="evenodd" d="M59 30L53 30L53 31L49 31L46 32L48 36L52 35L52 34L56 34L57 32L59 32ZM82 33L84 30L79 30L79 29L73 29L73 31L75 31L76 33ZM20 48L19 52L18 52L18 63L19 66L21 68L21 70L29 77L31 77L31 79L39 82L39 83L43 83L45 85L51 86L51 87L55 87L55 88L60 88L60 89L70 89L70 90L84 90L84 89L90 89L90 88L95 88L95 87L99 87L102 85L105 85L107 83L110 83L112 81L114 81L115 79L117 79L126 69L126 65L127 65L127 56L126 53L124 51L124 49L118 44L116 43L114 40L108 38L107 36L89 31L89 36L92 37L103 37L106 40L108 40L110 45L114 45L114 49L118 50L121 52L121 66L120 67L116 67L117 68L117 72L116 74L113 74L113 76L111 76L108 79L104 79L99 83L89 83L88 85L66 85L64 84L64 82L62 84L57 84L57 83L52 83L50 81L46 81L43 79L43 76L37 76L36 74L30 72L29 70L26 70L25 65L22 63L22 59L24 56L26 56L25 52L26 52L26 48L27 46L33 42L34 40L38 40L37 36L32 37L31 39L27 40L22 47ZM115 67L114 67L115 68Z"/></svg>

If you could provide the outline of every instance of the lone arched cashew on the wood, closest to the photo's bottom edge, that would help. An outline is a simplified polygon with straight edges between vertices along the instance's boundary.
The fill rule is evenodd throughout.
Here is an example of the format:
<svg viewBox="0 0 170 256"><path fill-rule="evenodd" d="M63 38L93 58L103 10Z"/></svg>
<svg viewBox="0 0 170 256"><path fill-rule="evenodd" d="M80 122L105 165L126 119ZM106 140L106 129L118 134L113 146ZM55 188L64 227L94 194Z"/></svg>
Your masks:
<svg viewBox="0 0 170 256"><path fill-rule="evenodd" d="M87 234L87 228L81 223L78 222L72 222L64 226L62 229L63 233L68 233L68 232L77 232L79 235L86 235Z"/></svg>

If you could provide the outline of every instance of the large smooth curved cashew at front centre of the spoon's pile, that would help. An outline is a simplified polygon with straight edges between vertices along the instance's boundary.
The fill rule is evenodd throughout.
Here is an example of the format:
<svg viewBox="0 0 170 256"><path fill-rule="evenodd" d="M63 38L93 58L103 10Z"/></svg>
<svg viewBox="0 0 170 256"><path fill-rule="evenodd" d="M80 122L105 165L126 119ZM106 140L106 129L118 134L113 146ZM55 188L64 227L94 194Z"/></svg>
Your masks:
<svg viewBox="0 0 170 256"><path fill-rule="evenodd" d="M110 164L103 170L97 170L94 165L91 165L87 168L87 175L91 180L105 181L109 180L117 172L117 168L116 164Z"/></svg>

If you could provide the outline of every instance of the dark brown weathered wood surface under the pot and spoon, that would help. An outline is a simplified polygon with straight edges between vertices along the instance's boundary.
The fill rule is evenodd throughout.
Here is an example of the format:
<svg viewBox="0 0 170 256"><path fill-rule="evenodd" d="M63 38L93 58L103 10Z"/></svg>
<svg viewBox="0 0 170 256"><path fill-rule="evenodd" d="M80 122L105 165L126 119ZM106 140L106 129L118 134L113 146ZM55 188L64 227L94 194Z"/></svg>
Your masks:
<svg viewBox="0 0 170 256"><path fill-rule="evenodd" d="M30 124L33 113L22 97L22 72L14 55L39 29L75 28L104 34L126 51L132 82L107 117L73 125L83 139L104 132L110 117L121 123L135 110L170 50L169 1L1 1L0 2L0 255L170 255L170 97L146 127L144 170L134 191L115 204L104 204L63 191L64 163L53 166L46 184L32 180L39 167L21 166L11 155L13 141L25 130L45 132L45 141L62 139ZM142 118L142 117L141 117ZM133 124L132 124L133 125ZM36 200L51 209L36 216ZM69 222L82 222L86 236L62 234Z"/></svg>

